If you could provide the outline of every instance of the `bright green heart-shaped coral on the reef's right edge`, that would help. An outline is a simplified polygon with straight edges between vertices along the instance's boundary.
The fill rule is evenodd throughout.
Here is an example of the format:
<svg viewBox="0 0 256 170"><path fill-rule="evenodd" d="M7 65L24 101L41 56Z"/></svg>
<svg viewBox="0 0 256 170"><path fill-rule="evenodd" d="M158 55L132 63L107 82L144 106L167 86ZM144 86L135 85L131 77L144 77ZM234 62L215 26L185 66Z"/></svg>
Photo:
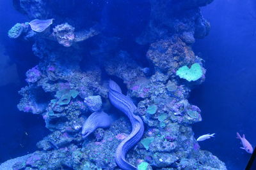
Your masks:
<svg viewBox="0 0 256 170"><path fill-rule="evenodd" d="M196 81L202 77L203 71L202 67L198 63L192 64L189 68L188 66L182 66L176 71L176 75L180 78L184 78L188 81Z"/></svg>

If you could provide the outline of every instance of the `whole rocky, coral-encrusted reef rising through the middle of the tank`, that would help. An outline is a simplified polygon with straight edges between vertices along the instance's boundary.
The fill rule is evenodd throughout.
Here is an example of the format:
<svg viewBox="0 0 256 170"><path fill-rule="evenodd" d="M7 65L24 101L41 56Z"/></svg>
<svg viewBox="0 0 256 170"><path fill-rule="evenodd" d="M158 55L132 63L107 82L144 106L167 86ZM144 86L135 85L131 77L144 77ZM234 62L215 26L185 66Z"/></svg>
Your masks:
<svg viewBox="0 0 256 170"><path fill-rule="evenodd" d="M191 45L209 33L200 6L211 1L143 1L150 14L128 37L106 24L118 17L114 2L13 1L31 20L55 18L47 32L9 32L33 42L40 59L18 109L42 115L51 133L0 169L226 169L200 150L192 125L204 116L188 101L205 80Z"/></svg>

